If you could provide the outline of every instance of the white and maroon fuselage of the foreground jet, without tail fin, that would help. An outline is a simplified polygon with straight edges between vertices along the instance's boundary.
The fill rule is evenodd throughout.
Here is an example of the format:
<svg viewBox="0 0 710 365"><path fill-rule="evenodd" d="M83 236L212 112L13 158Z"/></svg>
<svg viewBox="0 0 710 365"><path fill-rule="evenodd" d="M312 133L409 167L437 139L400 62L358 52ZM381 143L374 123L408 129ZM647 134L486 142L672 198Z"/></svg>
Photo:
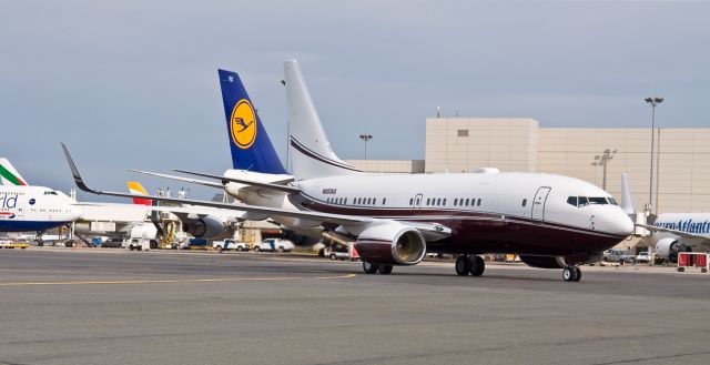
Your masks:
<svg viewBox="0 0 710 365"><path fill-rule="evenodd" d="M633 223L604 190L540 173L355 174L295 183L305 209L400 221L438 222L457 245L547 245L601 251L631 234ZM579 202L581 201L581 203ZM495 236L489 236L495 231ZM561 242L568 240L568 242ZM551 247L551 246L550 246ZM548 247L548 249L550 249ZM552 247L554 249L554 247ZM565 250L552 250L562 252ZM483 249L481 249L483 250ZM487 250L487 249L486 249ZM513 250L511 250L513 251ZM531 249L535 251L535 247Z"/></svg>

